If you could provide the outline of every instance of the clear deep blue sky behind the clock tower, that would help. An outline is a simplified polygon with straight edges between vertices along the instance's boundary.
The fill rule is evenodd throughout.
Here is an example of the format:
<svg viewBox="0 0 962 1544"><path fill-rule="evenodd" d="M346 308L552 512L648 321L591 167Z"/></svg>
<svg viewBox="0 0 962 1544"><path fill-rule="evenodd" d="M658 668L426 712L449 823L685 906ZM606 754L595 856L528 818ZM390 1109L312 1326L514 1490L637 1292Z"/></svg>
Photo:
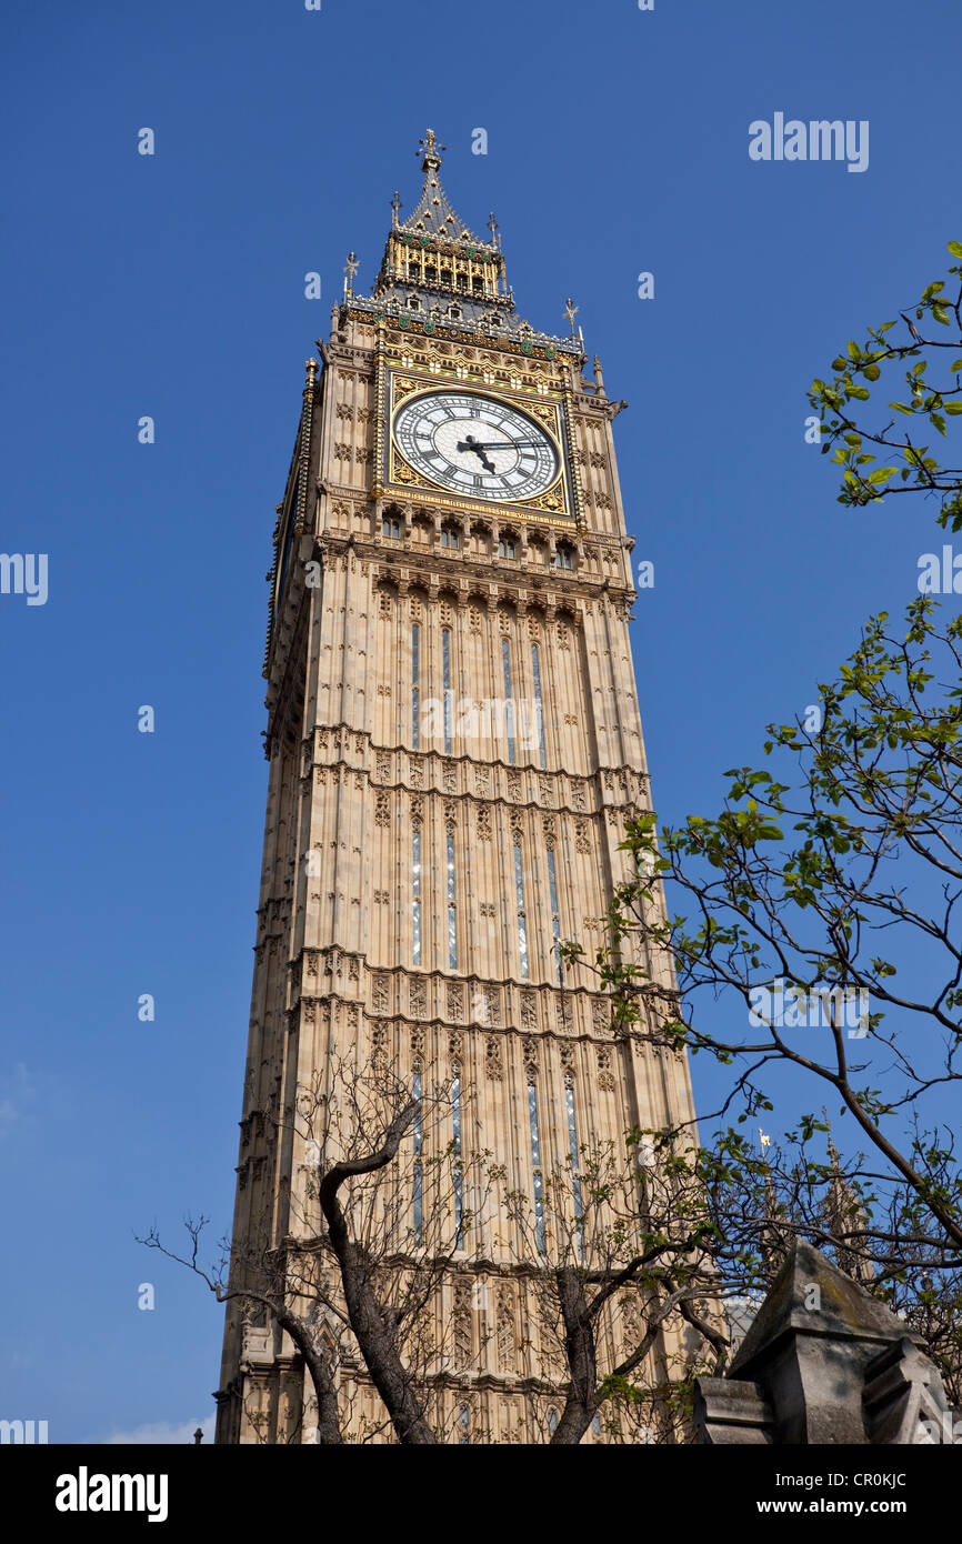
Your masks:
<svg viewBox="0 0 962 1544"><path fill-rule="evenodd" d="M522 313L561 332L576 298L630 403L622 491L656 568L633 630L656 804L710 809L942 540L920 505L835 503L804 389L962 239L962 12L167 0L5 31L0 545L49 554L49 598L0 598L0 1414L182 1439L213 1408L221 1309L133 1235L230 1220L264 573L347 250L369 287L431 124L454 207L497 215ZM775 111L868 120L868 170L749 161Z"/></svg>

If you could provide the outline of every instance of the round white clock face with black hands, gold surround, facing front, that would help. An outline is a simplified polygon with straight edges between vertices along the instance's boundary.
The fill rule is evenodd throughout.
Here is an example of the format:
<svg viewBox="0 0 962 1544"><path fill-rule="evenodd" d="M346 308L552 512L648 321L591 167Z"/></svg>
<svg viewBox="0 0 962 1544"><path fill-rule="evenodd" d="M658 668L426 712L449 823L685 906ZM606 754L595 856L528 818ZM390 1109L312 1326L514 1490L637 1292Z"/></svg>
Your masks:
<svg viewBox="0 0 962 1544"><path fill-rule="evenodd" d="M559 472L557 451L540 425L476 392L411 398L395 414L394 438L422 476L469 499L536 499Z"/></svg>

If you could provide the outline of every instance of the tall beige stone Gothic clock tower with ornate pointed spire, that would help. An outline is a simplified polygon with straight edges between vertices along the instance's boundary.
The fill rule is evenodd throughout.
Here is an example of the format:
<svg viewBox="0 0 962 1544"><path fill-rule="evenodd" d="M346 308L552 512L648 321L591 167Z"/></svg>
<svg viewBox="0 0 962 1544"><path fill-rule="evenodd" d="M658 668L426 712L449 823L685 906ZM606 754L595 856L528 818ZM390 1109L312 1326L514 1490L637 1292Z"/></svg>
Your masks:
<svg viewBox="0 0 962 1544"><path fill-rule="evenodd" d="M432 1092L391 1214L392 1249L417 1254L446 1150L432 1419L442 1441L539 1442L564 1382L531 1286L545 1177L571 1175L585 1141L689 1118L692 1099L684 1059L618 1039L596 977L559 953L602 942L624 823L650 808L611 434L624 403L598 360L582 375L570 301L567 337L519 317L496 221L482 239L456 215L442 148L428 131L423 193L405 221L395 196L371 295L347 261L278 505L232 1280L320 1231L317 1160L343 1141L329 1112L346 1070ZM645 968L670 982L664 960ZM320 1146L298 1118L318 1095ZM483 1153L530 1226L482 1197ZM307 1309L293 1278L289 1295ZM618 1305L608 1317L615 1354L628 1329ZM371 1439L383 1407L351 1336L323 1309L317 1325L346 1437ZM315 1441L312 1399L273 1315L230 1303L218 1441Z"/></svg>

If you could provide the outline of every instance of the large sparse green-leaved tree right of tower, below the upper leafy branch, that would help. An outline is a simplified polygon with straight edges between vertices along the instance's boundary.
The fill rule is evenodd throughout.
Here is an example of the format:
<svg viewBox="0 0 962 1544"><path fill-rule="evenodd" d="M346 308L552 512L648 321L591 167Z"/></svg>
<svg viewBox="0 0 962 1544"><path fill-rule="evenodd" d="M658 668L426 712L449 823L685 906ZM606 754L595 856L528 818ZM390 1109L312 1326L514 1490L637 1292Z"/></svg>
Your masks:
<svg viewBox="0 0 962 1544"><path fill-rule="evenodd" d="M939 627L934 613L928 598L911 602L900 635L874 618L818 687L818 726L769 724L766 755L794 758L794 783L737 767L716 817L664 828L661 843L653 815L628 826L635 872L593 968L622 1031L737 1065L718 1113L737 1098L743 1121L771 1110L774 1064L829 1085L960 1251L959 1181L947 1184L942 1149L916 1129L931 1095L962 1078L962 619ZM662 920L662 877L692 922ZM632 934L670 948L678 991L622 962ZM693 994L718 988L741 999L744 1033L696 1024Z"/></svg>

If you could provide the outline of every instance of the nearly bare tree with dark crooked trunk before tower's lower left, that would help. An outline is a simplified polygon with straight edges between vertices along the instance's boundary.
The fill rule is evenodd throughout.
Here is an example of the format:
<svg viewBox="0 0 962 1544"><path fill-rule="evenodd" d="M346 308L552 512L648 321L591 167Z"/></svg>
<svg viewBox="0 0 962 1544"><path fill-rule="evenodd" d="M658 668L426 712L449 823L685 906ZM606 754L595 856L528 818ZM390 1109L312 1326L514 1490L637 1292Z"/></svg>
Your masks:
<svg viewBox="0 0 962 1544"><path fill-rule="evenodd" d="M317 1076L296 1110L275 1121L275 1144L293 1139L307 1173L303 1206L290 1187L281 1238L264 1215L244 1244L221 1240L208 1266L199 1263L204 1217L188 1220L184 1254L156 1229L141 1238L199 1275L218 1302L267 1314L290 1336L310 1374L323 1445L343 1442L346 1407L360 1394L338 1379L354 1348L386 1417L361 1422L366 1437L389 1424L398 1442L440 1441L431 1403L452 1329L439 1334L432 1300L476 1221L466 1197L485 1200L485 1155L462 1158L445 1135L449 1110L446 1090L408 1085L380 1058L360 1068L334 1059L329 1085ZM300 1422L290 1436L301 1441Z"/></svg>

